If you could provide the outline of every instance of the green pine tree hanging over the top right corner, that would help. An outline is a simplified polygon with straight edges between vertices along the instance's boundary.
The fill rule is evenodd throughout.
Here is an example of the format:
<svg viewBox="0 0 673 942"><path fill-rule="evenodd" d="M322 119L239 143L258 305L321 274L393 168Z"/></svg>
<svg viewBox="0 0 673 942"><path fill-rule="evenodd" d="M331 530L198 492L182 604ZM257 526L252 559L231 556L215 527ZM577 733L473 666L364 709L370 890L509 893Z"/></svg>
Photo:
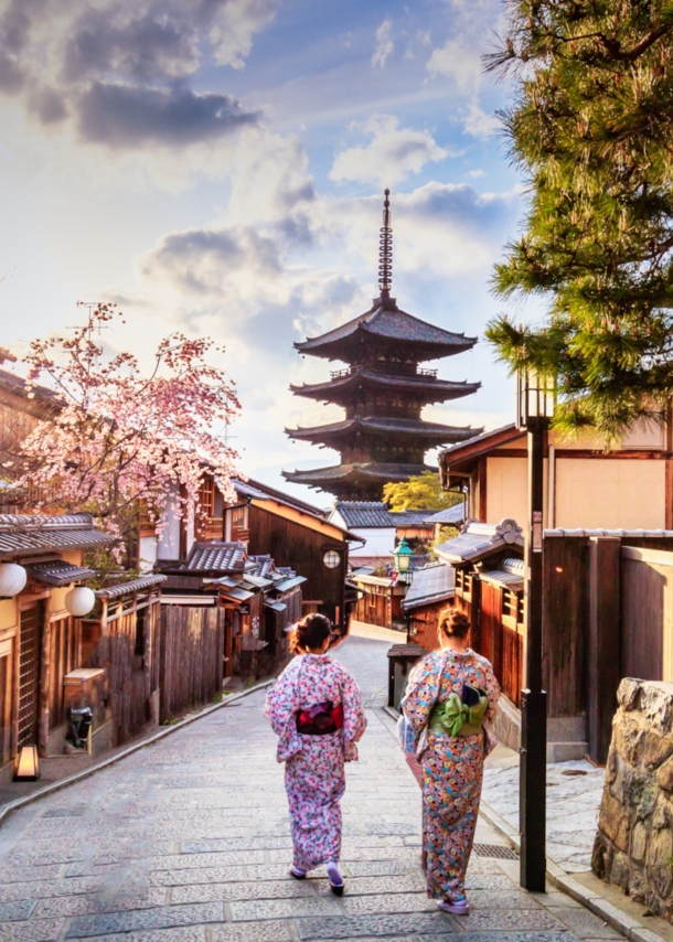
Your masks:
<svg viewBox="0 0 673 942"><path fill-rule="evenodd" d="M512 368L553 376L562 431L613 439L673 395L673 2L510 0L487 68L530 185L525 232L494 274L542 295L542 327L492 321Z"/></svg>

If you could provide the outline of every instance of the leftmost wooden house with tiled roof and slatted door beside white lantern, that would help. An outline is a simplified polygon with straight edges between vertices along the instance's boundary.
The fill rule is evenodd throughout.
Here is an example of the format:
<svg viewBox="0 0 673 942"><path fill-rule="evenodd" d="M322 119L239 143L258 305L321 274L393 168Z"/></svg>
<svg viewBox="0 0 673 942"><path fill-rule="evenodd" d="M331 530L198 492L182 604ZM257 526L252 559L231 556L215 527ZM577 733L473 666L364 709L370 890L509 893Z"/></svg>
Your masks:
<svg viewBox="0 0 673 942"><path fill-rule="evenodd" d="M22 746L63 751L64 683L83 665L81 621L68 592L94 576L84 553L115 544L88 514L0 515L0 568L10 563L24 587L0 599L0 769ZM17 584L20 586L20 582ZM6 589L10 591L10 589Z"/></svg>

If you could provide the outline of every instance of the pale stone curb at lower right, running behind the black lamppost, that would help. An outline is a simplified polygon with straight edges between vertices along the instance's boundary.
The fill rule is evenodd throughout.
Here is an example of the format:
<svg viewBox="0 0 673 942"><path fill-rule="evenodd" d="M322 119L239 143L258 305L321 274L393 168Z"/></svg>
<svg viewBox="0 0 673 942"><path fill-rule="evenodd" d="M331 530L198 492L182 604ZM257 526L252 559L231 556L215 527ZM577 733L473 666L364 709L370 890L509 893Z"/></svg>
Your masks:
<svg viewBox="0 0 673 942"><path fill-rule="evenodd" d="M517 832L491 805L482 802L479 813L488 821L491 827L505 838L514 850L517 853L521 852L521 839ZM617 932L620 932L627 939L631 939L632 942L666 942L663 935L660 935L652 929L648 929L642 922L633 919L627 912L622 912L594 890L587 889L579 880L566 874L563 867L559 867L551 857L547 857L547 880L552 886L560 890L560 892L581 903L585 909L594 912Z"/></svg>

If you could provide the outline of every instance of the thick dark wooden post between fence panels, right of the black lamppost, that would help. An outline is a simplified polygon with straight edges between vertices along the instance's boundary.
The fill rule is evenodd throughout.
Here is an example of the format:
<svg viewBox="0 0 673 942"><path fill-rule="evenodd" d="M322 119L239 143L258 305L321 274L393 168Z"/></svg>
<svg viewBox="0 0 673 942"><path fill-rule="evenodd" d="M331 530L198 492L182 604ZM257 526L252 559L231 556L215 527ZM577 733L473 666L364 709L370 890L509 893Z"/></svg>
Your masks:
<svg viewBox="0 0 673 942"><path fill-rule="evenodd" d="M603 766L621 681L621 540L589 539L589 756Z"/></svg>

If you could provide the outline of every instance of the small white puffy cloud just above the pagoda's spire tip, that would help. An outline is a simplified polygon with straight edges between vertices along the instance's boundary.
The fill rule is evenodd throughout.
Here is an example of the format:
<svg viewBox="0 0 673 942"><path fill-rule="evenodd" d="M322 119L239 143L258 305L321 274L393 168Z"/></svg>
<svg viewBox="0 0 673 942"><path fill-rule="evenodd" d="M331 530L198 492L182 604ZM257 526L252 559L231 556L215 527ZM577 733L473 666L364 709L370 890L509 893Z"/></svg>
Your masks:
<svg viewBox="0 0 673 942"><path fill-rule="evenodd" d="M372 136L366 147L352 147L336 154L330 179L357 180L394 185L409 173L418 173L426 163L444 160L449 151L439 147L428 131L399 128L393 115L374 115L362 126L352 125Z"/></svg>

